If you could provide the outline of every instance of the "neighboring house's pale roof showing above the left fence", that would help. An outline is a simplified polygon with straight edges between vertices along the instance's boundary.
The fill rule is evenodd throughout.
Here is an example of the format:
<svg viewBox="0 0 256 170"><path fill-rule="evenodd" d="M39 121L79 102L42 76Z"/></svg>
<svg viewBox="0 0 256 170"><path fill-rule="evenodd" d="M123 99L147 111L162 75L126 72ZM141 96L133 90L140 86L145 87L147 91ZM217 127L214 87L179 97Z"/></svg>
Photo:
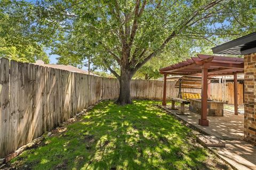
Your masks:
<svg viewBox="0 0 256 170"><path fill-rule="evenodd" d="M76 72L76 73L89 74L89 72L87 72L85 70L82 70L82 69L78 69L77 67L74 67L72 65L44 64L44 62L41 61L41 60L37 60L35 64L36 65L46 66L46 67L51 67L53 69L60 69L60 70L67 70L67 71ZM94 74L92 72L90 72L90 75L99 76L99 75Z"/></svg>

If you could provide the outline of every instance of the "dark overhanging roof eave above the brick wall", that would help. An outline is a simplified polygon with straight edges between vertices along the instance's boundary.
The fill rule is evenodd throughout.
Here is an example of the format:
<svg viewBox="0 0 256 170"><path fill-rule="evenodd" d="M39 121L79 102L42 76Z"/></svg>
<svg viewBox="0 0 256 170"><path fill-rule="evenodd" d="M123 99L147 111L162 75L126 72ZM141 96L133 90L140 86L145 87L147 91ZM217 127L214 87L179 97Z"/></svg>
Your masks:
<svg viewBox="0 0 256 170"><path fill-rule="evenodd" d="M256 52L256 32L213 47L214 54L246 55Z"/></svg>

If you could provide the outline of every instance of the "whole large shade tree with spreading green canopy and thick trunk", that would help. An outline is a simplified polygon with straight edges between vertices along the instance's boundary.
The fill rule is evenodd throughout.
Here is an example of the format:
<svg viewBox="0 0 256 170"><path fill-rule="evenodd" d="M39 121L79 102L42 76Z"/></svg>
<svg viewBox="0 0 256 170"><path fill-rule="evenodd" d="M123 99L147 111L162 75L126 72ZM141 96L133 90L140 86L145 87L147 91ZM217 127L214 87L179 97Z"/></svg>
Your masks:
<svg viewBox="0 0 256 170"><path fill-rule="evenodd" d="M57 43L83 42L94 64L115 75L121 105L132 103L133 75L173 44L184 38L212 42L255 28L255 2L249 0L64 0L37 5L47 18L44 27L58 25Z"/></svg>

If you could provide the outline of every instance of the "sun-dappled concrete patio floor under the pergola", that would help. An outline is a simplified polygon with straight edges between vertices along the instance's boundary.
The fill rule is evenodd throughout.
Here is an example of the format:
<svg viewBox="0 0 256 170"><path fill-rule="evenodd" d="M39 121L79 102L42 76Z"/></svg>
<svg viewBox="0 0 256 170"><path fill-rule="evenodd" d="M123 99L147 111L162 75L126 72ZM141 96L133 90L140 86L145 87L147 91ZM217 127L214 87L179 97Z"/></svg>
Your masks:
<svg viewBox="0 0 256 170"><path fill-rule="evenodd" d="M171 110L171 106L160 106L168 113L176 116L180 120L194 126L205 135L216 137L220 142L225 143L225 147L208 147L218 157L225 160L234 169L256 169L256 146L243 141L244 137L244 114L243 107L238 110L238 115L234 115L234 106L226 105L224 116L207 116L209 126L198 125L199 114L188 111L179 115L178 110Z"/></svg>

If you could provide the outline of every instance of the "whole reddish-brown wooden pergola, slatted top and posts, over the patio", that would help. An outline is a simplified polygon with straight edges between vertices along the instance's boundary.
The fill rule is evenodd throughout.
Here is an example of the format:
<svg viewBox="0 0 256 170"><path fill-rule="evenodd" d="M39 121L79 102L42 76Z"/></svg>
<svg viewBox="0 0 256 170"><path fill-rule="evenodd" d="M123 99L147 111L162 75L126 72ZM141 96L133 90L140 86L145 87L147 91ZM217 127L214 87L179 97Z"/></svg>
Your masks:
<svg viewBox="0 0 256 170"><path fill-rule="evenodd" d="M234 106L235 115L238 114L237 104L237 74L244 73L244 58L224 57L198 54L186 61L179 62L160 69L164 74L163 102L166 106L166 77L167 75L196 75L202 77L201 118L199 125L209 126L207 120L207 84L208 78L215 75L234 75Z"/></svg>

